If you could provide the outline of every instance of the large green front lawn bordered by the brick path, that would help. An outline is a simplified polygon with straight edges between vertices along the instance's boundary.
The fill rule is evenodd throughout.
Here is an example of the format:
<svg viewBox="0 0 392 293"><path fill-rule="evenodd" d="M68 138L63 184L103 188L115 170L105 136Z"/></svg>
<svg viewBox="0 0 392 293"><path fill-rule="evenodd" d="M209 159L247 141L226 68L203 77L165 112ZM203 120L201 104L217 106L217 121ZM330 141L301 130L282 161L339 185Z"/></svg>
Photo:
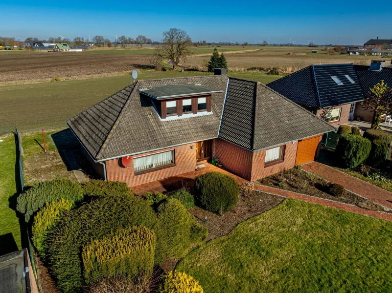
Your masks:
<svg viewBox="0 0 392 293"><path fill-rule="evenodd" d="M390 292L392 223L287 199L191 251L205 293Z"/></svg>

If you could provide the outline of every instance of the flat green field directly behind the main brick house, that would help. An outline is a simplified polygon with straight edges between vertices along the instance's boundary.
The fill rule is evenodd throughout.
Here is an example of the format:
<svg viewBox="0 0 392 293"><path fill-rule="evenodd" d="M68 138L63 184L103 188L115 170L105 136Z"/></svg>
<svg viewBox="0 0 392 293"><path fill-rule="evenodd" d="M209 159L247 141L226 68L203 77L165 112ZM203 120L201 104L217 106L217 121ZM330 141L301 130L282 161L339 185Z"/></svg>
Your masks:
<svg viewBox="0 0 392 293"><path fill-rule="evenodd" d="M198 71L141 70L139 79L200 76ZM233 77L269 83L281 76L230 73ZM131 83L131 76L0 86L0 133L15 125L22 131L64 127L65 121Z"/></svg>

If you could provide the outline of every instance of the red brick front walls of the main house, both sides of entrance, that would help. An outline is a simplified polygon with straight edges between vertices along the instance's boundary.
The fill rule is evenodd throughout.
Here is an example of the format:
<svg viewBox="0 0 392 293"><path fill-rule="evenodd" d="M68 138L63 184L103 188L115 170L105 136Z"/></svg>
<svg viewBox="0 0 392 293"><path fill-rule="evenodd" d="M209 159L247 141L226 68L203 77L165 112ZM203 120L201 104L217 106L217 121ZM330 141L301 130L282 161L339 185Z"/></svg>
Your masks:
<svg viewBox="0 0 392 293"><path fill-rule="evenodd" d="M246 180L254 181L283 169L295 167L298 142L285 145L283 161L269 167L264 166L266 150L252 152L220 138L215 139L212 146L213 157L218 158L223 167ZM135 175L134 158L171 149L174 149L175 166ZM196 168L196 143L132 156L129 167L123 167L121 159L106 161L105 164L108 181L125 182L129 187L174 176L181 177L181 174L193 171Z"/></svg>

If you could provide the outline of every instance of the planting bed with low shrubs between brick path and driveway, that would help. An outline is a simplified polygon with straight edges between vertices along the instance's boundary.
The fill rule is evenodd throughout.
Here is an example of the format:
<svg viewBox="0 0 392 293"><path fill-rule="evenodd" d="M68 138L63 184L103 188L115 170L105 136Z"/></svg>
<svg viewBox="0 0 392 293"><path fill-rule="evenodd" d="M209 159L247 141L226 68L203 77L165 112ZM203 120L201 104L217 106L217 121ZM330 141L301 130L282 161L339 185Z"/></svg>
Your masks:
<svg viewBox="0 0 392 293"><path fill-rule="evenodd" d="M347 190L343 196L328 194L330 186L328 181L300 169L284 170L269 177L259 179L258 182L266 186L355 205L363 209L391 212L373 201Z"/></svg>

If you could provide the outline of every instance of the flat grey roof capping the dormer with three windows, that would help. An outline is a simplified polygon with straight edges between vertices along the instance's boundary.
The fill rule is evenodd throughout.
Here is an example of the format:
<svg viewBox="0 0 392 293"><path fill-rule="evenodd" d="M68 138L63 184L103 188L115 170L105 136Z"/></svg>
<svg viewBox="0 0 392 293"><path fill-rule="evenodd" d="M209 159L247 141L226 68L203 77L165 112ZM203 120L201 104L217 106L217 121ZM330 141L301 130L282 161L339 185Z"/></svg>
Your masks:
<svg viewBox="0 0 392 293"><path fill-rule="evenodd" d="M140 93L143 93L157 100L214 94L214 93L221 93L221 92L223 91L215 88L203 86L203 85L196 85L196 84L163 84L149 89L140 90Z"/></svg>

